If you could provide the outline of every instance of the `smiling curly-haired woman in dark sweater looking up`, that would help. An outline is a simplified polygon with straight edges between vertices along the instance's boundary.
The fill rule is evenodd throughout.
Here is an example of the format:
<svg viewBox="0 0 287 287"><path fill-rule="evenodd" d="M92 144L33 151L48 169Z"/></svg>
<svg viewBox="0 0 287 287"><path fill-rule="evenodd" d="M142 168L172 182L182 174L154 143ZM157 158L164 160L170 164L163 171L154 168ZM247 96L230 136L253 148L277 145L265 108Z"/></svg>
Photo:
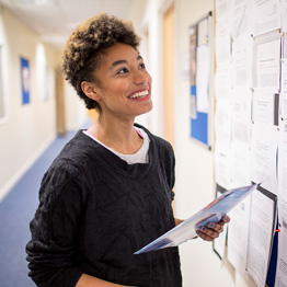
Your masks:
<svg viewBox="0 0 287 287"><path fill-rule="evenodd" d="M106 14L82 23L66 44L66 77L100 116L44 175L26 246L37 286L182 286L177 248L133 255L182 221L171 207L172 147L134 124L152 108L138 45L129 23ZM214 240L223 225L198 234Z"/></svg>

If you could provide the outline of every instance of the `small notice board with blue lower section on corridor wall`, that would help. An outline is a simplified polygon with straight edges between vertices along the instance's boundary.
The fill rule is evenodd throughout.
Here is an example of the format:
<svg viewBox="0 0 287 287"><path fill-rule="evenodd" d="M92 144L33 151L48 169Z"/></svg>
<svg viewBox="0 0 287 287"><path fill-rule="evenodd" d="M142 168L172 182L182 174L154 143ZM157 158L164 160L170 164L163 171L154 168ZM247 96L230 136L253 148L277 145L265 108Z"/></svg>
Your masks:
<svg viewBox="0 0 287 287"><path fill-rule="evenodd" d="M213 13L190 27L191 137L211 146Z"/></svg>

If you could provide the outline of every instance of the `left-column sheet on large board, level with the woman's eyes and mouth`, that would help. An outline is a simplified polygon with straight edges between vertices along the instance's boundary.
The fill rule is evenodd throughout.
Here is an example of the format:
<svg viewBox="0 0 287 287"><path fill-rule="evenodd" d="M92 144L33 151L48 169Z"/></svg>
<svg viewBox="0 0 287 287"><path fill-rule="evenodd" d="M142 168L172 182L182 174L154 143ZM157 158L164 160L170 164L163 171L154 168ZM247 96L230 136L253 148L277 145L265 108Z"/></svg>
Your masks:
<svg viewBox="0 0 287 287"><path fill-rule="evenodd" d="M217 101L231 101L231 65L228 61L216 68L215 95Z"/></svg>

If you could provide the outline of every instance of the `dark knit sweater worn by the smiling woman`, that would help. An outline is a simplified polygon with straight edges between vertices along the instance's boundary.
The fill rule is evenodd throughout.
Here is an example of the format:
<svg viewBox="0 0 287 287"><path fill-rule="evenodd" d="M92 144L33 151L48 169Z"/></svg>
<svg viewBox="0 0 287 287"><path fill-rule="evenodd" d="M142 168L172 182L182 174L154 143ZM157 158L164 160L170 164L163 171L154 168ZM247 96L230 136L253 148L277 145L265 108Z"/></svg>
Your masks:
<svg viewBox="0 0 287 287"><path fill-rule="evenodd" d="M134 255L174 227L173 150L145 131L149 163L127 164L82 130L55 159L26 245L37 286L73 287L83 273L129 286L182 286L177 248Z"/></svg>

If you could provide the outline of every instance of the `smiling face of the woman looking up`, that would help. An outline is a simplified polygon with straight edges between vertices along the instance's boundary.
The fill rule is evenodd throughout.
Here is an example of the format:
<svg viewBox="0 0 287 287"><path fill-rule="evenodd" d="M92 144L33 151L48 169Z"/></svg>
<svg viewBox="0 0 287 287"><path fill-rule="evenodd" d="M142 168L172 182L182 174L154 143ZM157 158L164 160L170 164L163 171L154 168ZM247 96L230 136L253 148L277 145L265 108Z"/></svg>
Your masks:
<svg viewBox="0 0 287 287"><path fill-rule="evenodd" d="M152 108L152 80L131 46L117 43L108 48L95 78L102 115L134 119Z"/></svg>

